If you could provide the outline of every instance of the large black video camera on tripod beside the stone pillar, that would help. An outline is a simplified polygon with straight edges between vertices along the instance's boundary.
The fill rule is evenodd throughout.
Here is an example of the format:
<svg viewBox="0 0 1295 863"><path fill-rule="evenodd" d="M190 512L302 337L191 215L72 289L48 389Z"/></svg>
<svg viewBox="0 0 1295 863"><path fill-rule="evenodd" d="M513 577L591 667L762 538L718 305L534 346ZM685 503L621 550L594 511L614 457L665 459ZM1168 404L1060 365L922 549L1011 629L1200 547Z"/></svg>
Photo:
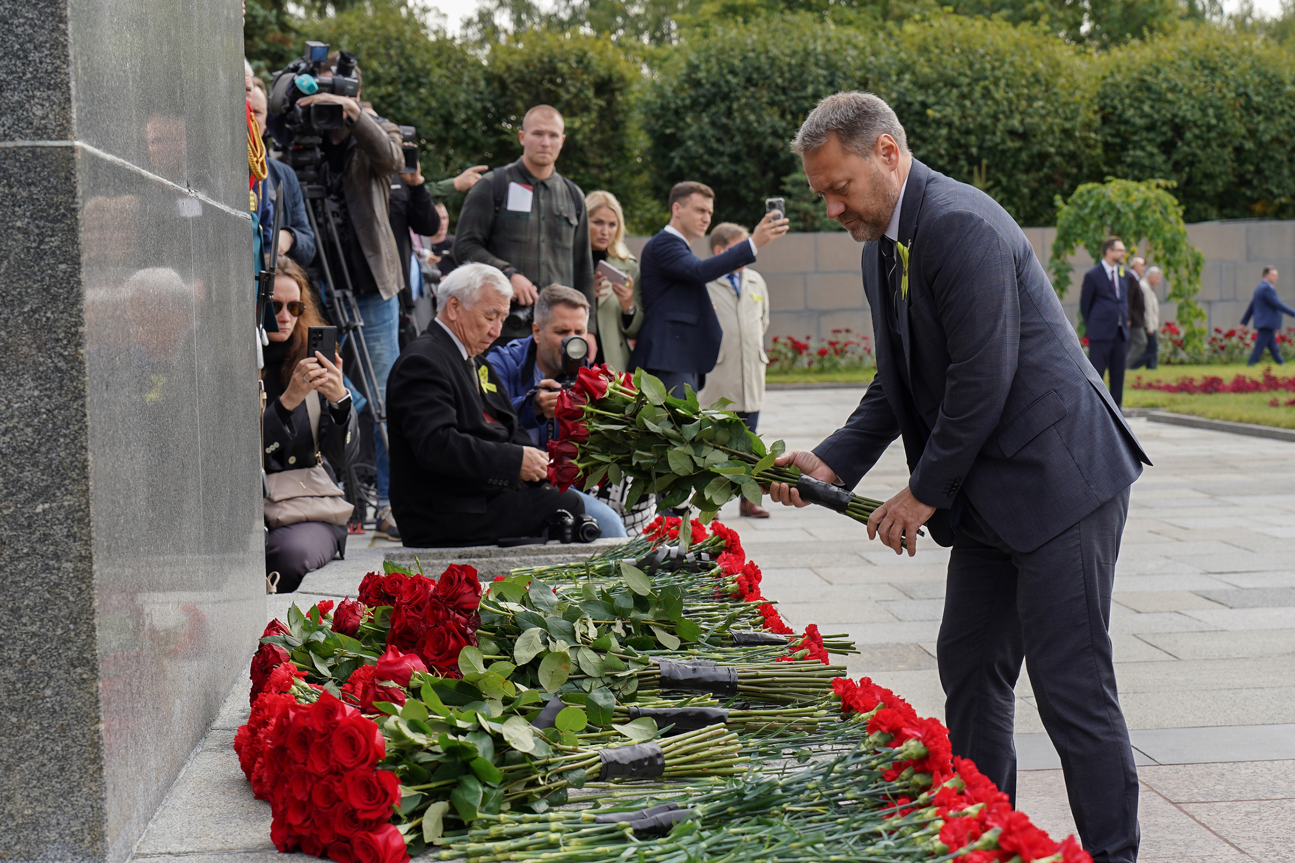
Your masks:
<svg viewBox="0 0 1295 863"><path fill-rule="evenodd" d="M360 79L355 75L355 56L338 53L337 66L332 76L320 76L326 69L328 44L307 41L306 53L275 72L269 84L268 113L271 133L280 146L287 147L297 136L319 136L324 129L341 129L346 115L341 105L297 102L315 93L356 97L360 93Z"/></svg>

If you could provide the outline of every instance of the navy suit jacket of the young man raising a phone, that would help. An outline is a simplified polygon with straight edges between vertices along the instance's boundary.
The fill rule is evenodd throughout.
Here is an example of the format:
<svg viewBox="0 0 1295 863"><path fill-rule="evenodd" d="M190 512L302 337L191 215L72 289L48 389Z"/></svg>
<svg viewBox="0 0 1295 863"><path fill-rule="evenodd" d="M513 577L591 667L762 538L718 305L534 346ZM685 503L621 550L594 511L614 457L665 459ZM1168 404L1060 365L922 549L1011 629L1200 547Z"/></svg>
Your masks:
<svg viewBox="0 0 1295 863"><path fill-rule="evenodd" d="M701 259L682 237L659 232L640 255L644 323L632 369L706 374L720 356L724 330L706 282L755 263L750 243Z"/></svg>

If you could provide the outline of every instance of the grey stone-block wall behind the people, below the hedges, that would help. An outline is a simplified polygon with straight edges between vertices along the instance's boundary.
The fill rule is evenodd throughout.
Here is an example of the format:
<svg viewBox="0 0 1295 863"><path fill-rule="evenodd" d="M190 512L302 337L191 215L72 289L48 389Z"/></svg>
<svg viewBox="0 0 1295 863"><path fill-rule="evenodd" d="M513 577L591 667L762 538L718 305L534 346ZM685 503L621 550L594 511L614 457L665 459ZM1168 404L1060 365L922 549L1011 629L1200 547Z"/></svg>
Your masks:
<svg viewBox="0 0 1295 863"><path fill-rule="evenodd" d="M1026 228L1026 237L1046 268L1057 229ZM1188 237L1206 256L1198 301L1208 313L1211 327L1226 330L1241 321L1265 264L1283 273L1277 292L1287 304L1295 304L1295 221L1208 221L1188 225ZM637 254L646 238L627 242ZM704 242L694 243L693 248L703 256L710 254ZM768 335L828 338L834 329L844 327L872 335L872 316L859 272L861 251L862 246L844 232L787 234L761 250L752 269L769 286ZM1071 287L1062 305L1074 322L1084 270L1093 260L1079 251L1071 265ZM1167 283L1160 285L1162 300L1167 289ZM1173 311L1173 303L1162 303L1162 320L1172 320Z"/></svg>

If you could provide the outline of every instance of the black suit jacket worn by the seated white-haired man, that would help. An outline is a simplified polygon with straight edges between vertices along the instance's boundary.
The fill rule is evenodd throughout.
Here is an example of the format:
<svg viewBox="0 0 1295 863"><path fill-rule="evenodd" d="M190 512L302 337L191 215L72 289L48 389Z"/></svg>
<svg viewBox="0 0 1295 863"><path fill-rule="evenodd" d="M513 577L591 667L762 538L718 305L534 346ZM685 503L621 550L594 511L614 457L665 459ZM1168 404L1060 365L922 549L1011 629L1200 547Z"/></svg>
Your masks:
<svg viewBox="0 0 1295 863"><path fill-rule="evenodd" d="M434 321L387 378L391 510L407 541L436 514L484 512L519 483L522 446L534 445L490 364L473 357L475 373L467 364ZM480 388L479 369L493 392Z"/></svg>

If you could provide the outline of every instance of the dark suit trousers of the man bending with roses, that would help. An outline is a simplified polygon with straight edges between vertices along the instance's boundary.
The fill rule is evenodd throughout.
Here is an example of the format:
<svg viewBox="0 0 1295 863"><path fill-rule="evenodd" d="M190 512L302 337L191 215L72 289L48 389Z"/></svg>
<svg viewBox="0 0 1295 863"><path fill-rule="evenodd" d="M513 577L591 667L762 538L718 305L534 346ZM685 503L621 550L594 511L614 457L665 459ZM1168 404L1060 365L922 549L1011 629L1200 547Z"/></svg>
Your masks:
<svg viewBox="0 0 1295 863"><path fill-rule="evenodd" d="M1075 827L1096 863L1133 863L1138 779L1107 631L1124 489L1033 551L1015 551L967 506L949 555L938 656L954 754L1015 805L1017 678L1061 756Z"/></svg>

